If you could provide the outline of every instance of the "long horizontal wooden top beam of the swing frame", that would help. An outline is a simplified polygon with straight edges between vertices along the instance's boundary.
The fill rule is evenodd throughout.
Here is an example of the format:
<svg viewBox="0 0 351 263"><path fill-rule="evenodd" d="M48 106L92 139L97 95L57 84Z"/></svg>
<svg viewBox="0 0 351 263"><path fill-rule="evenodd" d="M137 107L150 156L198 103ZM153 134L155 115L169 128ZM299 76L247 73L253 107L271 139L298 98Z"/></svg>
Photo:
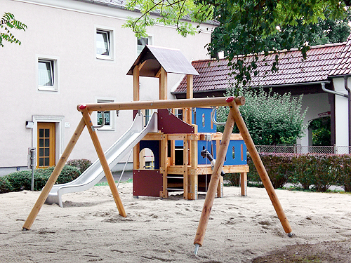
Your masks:
<svg viewBox="0 0 351 263"><path fill-rule="evenodd" d="M244 97L232 97L237 105L244 105ZM192 107L211 107L211 106L227 106L225 101L227 97L205 97L200 99L182 99L182 100L149 100L135 102L102 102L91 104L79 104L77 109L79 112L88 109L89 112L96 111L114 111L128 109L168 109L168 108L192 108Z"/></svg>

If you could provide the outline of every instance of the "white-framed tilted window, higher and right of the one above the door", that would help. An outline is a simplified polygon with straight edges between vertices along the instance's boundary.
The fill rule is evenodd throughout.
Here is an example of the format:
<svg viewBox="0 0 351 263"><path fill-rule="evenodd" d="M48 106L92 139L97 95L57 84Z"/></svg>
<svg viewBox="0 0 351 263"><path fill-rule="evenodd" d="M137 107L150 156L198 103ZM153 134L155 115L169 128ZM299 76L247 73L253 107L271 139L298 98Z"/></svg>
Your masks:
<svg viewBox="0 0 351 263"><path fill-rule="evenodd" d="M96 58L113 60L113 31L96 29Z"/></svg>

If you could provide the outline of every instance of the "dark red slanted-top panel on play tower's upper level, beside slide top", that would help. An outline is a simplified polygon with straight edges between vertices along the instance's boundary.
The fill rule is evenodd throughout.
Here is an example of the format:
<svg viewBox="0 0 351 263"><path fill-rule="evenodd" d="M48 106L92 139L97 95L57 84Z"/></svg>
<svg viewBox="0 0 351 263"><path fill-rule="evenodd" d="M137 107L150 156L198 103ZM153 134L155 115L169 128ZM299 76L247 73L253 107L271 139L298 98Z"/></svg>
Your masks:
<svg viewBox="0 0 351 263"><path fill-rule="evenodd" d="M157 128L161 133L194 133L194 127L168 112L168 109L159 109Z"/></svg>

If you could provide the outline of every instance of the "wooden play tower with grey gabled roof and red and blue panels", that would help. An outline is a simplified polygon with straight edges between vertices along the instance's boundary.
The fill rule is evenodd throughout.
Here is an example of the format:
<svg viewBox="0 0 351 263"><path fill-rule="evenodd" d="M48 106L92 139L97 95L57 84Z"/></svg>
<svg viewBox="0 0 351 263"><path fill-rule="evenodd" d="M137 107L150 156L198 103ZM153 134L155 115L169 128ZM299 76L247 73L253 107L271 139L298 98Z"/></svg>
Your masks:
<svg viewBox="0 0 351 263"><path fill-rule="evenodd" d="M145 46L128 75L133 75L133 100L140 100L140 76L159 78L159 100L167 100L167 74L185 74L187 99L193 98L193 76L199 73L180 50ZM195 111L196 110L196 111ZM159 133L149 133L133 149L133 195L167 198L171 191L183 191L185 199L197 199L199 191L206 192L211 180L211 163L201 158L203 148L217 156L221 133L211 118L211 108L182 108L182 119L174 115L175 109L158 110ZM136 112L135 112L136 114ZM205 126L206 123L206 126ZM207 131L207 132L206 132ZM152 149L154 169L145 169L145 147ZM246 146L240 134L230 137L224 173L241 174L241 194L246 196L249 166L246 164ZM179 151L180 150L180 151ZM182 153L183 152L183 153ZM140 157L141 155L141 157ZM236 156L235 159L232 156ZM145 162L144 162L145 163ZM223 177L220 177L217 196L223 197Z"/></svg>

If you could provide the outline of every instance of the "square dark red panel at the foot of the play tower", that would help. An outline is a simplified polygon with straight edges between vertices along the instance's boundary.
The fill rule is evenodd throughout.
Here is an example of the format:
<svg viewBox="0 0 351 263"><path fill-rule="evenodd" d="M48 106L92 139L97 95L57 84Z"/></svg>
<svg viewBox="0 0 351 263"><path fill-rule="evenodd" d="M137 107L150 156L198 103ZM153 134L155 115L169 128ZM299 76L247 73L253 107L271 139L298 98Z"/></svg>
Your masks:
<svg viewBox="0 0 351 263"><path fill-rule="evenodd" d="M162 184L159 170L133 170L133 196L159 197Z"/></svg>

